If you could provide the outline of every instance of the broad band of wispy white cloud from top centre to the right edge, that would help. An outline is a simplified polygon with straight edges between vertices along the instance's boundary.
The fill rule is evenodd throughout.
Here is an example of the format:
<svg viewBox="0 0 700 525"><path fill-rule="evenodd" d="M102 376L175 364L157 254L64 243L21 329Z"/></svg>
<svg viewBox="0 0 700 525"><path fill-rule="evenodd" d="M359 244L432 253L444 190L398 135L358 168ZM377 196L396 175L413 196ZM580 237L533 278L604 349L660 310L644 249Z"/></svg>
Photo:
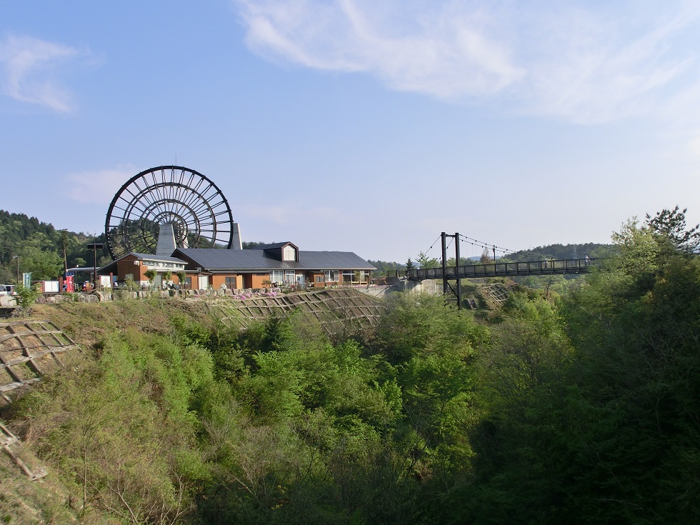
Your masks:
<svg viewBox="0 0 700 525"><path fill-rule="evenodd" d="M233 1L256 53L400 91L579 123L700 102L693 3Z"/></svg>

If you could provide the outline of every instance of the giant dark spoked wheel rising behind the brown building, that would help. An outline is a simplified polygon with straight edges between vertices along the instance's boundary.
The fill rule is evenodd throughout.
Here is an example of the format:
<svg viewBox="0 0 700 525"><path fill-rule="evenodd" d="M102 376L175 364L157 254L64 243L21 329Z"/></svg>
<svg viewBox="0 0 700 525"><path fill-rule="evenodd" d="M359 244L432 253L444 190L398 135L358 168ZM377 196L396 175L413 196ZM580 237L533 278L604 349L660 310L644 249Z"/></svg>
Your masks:
<svg viewBox="0 0 700 525"><path fill-rule="evenodd" d="M173 224L178 247L230 249L231 207L209 178L184 166L146 169L126 181L109 204L104 234L114 259L154 254L161 224Z"/></svg>

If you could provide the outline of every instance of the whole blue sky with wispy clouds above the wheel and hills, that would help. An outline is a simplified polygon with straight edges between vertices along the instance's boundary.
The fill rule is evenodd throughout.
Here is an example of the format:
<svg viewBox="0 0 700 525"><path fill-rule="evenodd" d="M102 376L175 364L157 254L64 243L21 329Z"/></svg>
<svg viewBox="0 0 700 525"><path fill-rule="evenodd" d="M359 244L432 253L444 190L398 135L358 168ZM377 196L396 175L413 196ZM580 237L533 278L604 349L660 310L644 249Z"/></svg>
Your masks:
<svg viewBox="0 0 700 525"><path fill-rule="evenodd" d="M371 260L694 225L700 3L3 2L0 209L101 232L171 164L244 241Z"/></svg>

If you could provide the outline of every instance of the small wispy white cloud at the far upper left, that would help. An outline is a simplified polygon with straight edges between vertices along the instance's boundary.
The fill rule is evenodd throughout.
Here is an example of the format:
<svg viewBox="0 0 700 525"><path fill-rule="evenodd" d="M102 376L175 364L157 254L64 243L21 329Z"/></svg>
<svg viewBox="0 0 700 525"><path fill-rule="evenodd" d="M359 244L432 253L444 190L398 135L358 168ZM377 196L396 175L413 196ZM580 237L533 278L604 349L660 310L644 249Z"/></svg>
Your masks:
<svg viewBox="0 0 700 525"><path fill-rule="evenodd" d="M71 94L55 78L61 64L76 59L80 51L28 36L7 36L0 41L2 92L13 99L72 111Z"/></svg>

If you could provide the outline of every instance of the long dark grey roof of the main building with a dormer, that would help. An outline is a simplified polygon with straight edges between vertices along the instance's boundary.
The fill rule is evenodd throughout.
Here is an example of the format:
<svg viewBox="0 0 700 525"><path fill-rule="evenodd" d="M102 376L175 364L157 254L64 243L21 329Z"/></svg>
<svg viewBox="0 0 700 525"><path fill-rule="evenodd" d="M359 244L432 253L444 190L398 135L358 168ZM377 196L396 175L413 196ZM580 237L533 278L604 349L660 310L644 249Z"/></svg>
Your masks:
<svg viewBox="0 0 700 525"><path fill-rule="evenodd" d="M286 244L286 243L282 243ZM191 261L207 270L376 270L351 251L299 251L299 262L273 259L264 249L220 250L181 248L174 256Z"/></svg>

